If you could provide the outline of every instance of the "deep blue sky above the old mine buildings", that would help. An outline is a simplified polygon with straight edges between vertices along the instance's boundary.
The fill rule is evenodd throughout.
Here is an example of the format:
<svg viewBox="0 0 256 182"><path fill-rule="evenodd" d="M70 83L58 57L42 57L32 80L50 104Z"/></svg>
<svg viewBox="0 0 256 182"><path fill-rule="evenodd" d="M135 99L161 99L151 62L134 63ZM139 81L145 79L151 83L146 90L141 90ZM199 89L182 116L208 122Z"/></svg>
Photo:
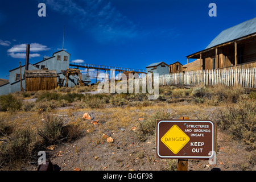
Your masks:
<svg viewBox="0 0 256 182"><path fill-rule="evenodd" d="M209 3L217 16L210 17ZM38 4L46 4L46 17ZM0 78L25 62L64 49L71 61L146 69L151 63L187 63L222 30L256 16L256 1L228 0L0 0ZM192 60L190 60L192 61Z"/></svg>

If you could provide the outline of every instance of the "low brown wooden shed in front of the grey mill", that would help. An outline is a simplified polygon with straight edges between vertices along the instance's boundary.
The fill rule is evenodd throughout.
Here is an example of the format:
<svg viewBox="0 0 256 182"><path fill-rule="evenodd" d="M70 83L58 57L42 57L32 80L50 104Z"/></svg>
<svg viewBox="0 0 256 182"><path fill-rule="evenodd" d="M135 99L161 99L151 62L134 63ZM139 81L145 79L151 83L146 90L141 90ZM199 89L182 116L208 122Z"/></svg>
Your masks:
<svg viewBox="0 0 256 182"><path fill-rule="evenodd" d="M55 70L27 70L25 71L26 91L51 90L57 88Z"/></svg>

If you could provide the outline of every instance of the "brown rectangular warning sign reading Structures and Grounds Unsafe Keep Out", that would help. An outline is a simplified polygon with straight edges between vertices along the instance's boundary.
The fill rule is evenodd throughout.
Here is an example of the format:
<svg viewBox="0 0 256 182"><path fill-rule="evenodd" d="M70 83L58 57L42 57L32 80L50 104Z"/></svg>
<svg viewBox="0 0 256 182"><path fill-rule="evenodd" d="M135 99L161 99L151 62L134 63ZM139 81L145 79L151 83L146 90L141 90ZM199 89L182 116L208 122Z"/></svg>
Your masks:
<svg viewBox="0 0 256 182"><path fill-rule="evenodd" d="M216 151L215 138L216 125L212 121L160 120L156 122L156 155L159 158L209 159Z"/></svg>

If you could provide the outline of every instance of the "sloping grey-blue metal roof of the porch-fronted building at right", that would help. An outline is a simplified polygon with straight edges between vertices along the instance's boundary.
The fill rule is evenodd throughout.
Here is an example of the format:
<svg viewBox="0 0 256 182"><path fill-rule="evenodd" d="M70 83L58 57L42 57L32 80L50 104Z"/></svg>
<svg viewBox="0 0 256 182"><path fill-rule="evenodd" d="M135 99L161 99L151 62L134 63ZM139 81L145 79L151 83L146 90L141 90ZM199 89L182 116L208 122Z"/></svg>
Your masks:
<svg viewBox="0 0 256 182"><path fill-rule="evenodd" d="M256 17L246 22L237 24L234 27L230 27L222 31L210 44L205 48L211 48L231 40L242 38L243 36L250 35L256 32Z"/></svg>

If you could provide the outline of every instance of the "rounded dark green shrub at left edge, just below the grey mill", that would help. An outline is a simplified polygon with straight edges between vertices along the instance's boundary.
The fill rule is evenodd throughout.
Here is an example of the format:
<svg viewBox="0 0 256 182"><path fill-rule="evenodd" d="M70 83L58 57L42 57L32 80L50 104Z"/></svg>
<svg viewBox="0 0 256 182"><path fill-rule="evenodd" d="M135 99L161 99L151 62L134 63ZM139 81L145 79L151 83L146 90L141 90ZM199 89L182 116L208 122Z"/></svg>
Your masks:
<svg viewBox="0 0 256 182"><path fill-rule="evenodd" d="M16 111L22 107L22 101L14 97L12 94L0 96L1 111Z"/></svg>

